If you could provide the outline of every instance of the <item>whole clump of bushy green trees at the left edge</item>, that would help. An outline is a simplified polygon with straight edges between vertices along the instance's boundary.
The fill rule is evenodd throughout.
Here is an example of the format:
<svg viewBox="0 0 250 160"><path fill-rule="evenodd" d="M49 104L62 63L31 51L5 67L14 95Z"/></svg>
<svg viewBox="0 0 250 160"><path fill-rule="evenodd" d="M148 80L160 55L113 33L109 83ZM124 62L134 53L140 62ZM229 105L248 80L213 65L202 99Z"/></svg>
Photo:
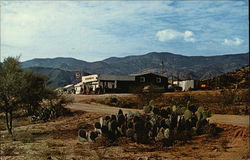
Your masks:
<svg viewBox="0 0 250 160"><path fill-rule="evenodd" d="M4 59L0 65L0 111L5 113L9 134L14 111L26 108L35 114L43 99L53 93L47 82L46 77L23 70L18 57Z"/></svg>

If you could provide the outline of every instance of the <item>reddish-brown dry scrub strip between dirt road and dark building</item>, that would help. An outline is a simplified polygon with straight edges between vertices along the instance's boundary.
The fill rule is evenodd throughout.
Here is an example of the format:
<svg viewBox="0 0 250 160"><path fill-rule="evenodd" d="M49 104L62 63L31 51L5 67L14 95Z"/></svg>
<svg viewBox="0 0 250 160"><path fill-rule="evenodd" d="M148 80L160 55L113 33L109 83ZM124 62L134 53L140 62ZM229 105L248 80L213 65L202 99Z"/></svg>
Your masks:
<svg viewBox="0 0 250 160"><path fill-rule="evenodd" d="M134 94L93 95L92 98L84 97L84 95L78 97L78 102L94 102L121 108L142 109L146 102L143 95L136 96ZM249 93L246 89L237 90L237 92L227 90L224 92L221 92L221 90L171 92L159 94L153 98L155 98L155 104L160 107L191 103L203 106L211 110L212 113L217 114L249 114ZM150 99L150 95L146 99Z"/></svg>

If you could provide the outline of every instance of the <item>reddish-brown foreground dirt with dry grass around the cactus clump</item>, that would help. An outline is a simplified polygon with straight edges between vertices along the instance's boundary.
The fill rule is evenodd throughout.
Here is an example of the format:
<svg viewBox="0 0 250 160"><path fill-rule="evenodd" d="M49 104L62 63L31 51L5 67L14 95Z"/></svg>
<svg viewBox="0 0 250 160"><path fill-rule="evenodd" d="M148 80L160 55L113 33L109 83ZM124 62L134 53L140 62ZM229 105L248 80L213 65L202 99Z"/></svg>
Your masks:
<svg viewBox="0 0 250 160"><path fill-rule="evenodd" d="M218 137L202 135L187 143L171 147L158 144L142 145L121 140L113 146L93 142L80 142L77 131L80 127L93 129L93 123L104 113L77 111L73 116L54 121L28 124L29 119L17 119L14 136L10 137L1 121L1 160L13 159L69 159L69 160L137 160L152 159L249 159L248 128L218 124L223 131ZM24 126L19 126L25 124Z"/></svg>

